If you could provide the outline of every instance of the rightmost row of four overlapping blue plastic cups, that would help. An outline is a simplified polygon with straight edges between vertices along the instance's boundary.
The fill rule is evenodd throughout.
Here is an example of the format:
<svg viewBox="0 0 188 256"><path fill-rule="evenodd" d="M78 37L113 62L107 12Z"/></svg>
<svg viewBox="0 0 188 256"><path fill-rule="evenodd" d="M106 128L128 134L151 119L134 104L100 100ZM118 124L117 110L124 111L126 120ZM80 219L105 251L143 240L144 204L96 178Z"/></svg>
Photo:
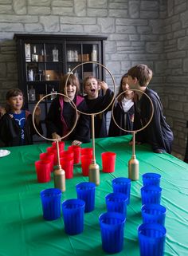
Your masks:
<svg viewBox="0 0 188 256"><path fill-rule="evenodd" d="M143 224L138 227L140 256L163 256L166 239L166 207L161 203L161 175L145 173L141 187Z"/></svg>

